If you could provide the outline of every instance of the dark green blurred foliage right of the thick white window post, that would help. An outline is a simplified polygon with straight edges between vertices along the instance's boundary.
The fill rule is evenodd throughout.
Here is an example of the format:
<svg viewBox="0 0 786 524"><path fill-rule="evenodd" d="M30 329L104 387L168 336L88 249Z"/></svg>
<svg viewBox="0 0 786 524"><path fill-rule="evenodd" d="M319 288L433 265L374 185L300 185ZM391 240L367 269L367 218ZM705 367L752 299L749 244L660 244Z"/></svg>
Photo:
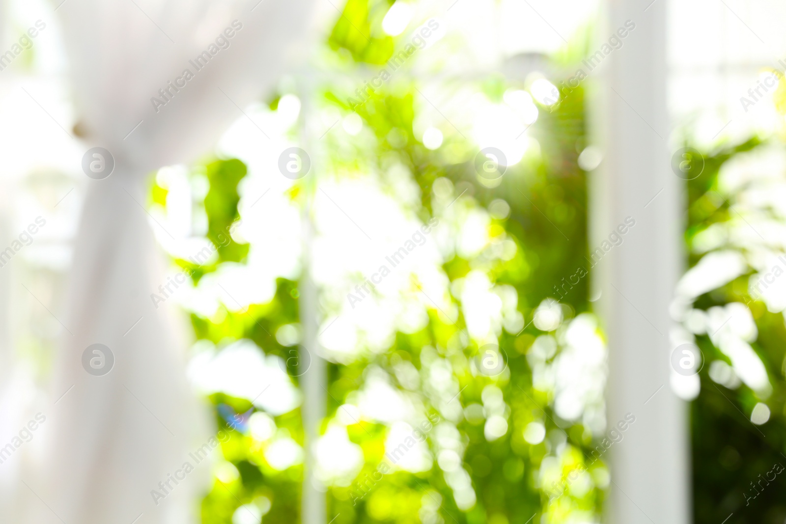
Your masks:
<svg viewBox="0 0 786 524"><path fill-rule="evenodd" d="M721 168L741 154L758 152L768 145L771 144L752 137L739 145L704 155L703 173L688 183L686 241L690 249L690 266L696 266L705 256L703 251L696 249L700 233L713 226L729 225L740 218L746 220L740 214L745 211L736 209L738 202L735 196L726 195L718 185ZM746 250L740 251L744 253ZM748 269L740 277L696 300L695 307L699 310L709 310L730 302L747 304L758 328L758 338L751 346L765 365L773 387L768 398L761 398L761 394L745 384L729 389L714 382L709 374L711 362L732 362L714 346L708 335L696 337L706 359L700 372L701 392L691 406L693 505L694 519L698 524L720 522L729 518L731 513L734 515L727 521L729 524L774 524L786 519L786 504L781 496L781 483L784 481L780 475L773 482L765 480L759 485L774 464L786 465L786 380L782 371L786 355L786 328L782 314L770 313L763 302L754 301L751 297L748 279L753 273ZM749 418L758 402L765 402L772 412L769 423L763 426L754 425ZM769 486L770 483L772 486Z"/></svg>

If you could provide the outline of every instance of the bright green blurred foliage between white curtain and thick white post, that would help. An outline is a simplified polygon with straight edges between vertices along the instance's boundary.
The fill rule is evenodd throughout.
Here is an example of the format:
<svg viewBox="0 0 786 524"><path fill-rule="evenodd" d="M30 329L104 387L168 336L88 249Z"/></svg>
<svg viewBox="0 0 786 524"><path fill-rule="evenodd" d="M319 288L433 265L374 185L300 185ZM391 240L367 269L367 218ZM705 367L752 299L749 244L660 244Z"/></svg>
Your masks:
<svg viewBox="0 0 786 524"><path fill-rule="evenodd" d="M384 64L395 44L393 38L380 32L389 5L387 1L349 0L330 35L331 49L339 55L350 53L355 62ZM490 101L499 103L505 90L527 86L493 76L474 87ZM451 86L446 89L450 90ZM343 103L345 94L338 86L326 86L321 103L348 115L351 108ZM276 97L270 104L271 110L277 108L278 100ZM428 471L395 471L377 478L376 471L384 460L388 428L381 423L358 420L347 425L347 434L362 449L362 471L349 486L329 486L326 493L329 514L337 515L336 524L545 524L564 522L576 512L587 520L597 519L604 497L605 470L600 461L589 467L593 481L585 490L575 486L557 489L560 493L552 490L552 500L541 486L546 458L559 464L553 474L556 477L552 476L551 480L564 488L569 484L567 478L571 471L586 467L589 451L597 442L580 420L570 422L557 416L552 407L553 391L536 389L533 385L533 363L537 361L532 354L533 343L544 336L561 340L565 325L578 313L589 310L587 279L582 279L568 286L567 295L561 299L564 323L558 330L545 333L532 323L538 305L558 296L556 287L562 286L578 266L589 266L582 262L587 255L586 174L577 165L578 153L585 147L583 90L578 87L561 93L560 102L554 106L538 105L540 118L527 131L537 142L520 163L509 168L496 187L482 183L474 167L476 146L460 131L446 134L444 144L435 151L421 144L414 128L424 107L428 106L419 96L417 82L401 79L384 84L368 101L355 108L369 133L351 141L327 134L325 149L329 154L323 159L321 169L336 177L380 173L384 189L393 194L400 180L386 173L393 165L406 167L419 194L416 203L402 205L409 206L424 223L445 211L444 204L435 200L437 183L444 185L449 181L456 197L450 205L456 210L483 211L487 215L495 203L504 200L509 204L509 213L490 219L489 247L479 255L456 254L441 269L454 284L473 271L481 271L491 284L511 287L517 295L516 309L524 321L522 329L503 331L498 339L507 364L499 376L484 376L476 371L473 362L479 357L480 348L468 338L467 321L458 306L457 318L448 318L443 311L432 308L424 328L413 333L398 332L391 346L381 353L362 354L346 364L329 363L327 420L340 418L340 406L362 389L369 369L386 372L397 390L422 402L432 421L446 420L444 413L450 408L433 377L442 373L443 380L456 383L456 394L450 403L461 408L455 422L459 442L465 448L459 456L460 466L467 471L476 494L476 504L462 510L458 504L461 500L456 499L455 482L450 481L450 468L439 465L443 459L435 460ZM452 124L446 129L452 129ZM195 168L195 174L206 175L210 184L204 198L208 219L206 236L219 254L215 263L204 266L178 260L178 264L194 271L195 283L223 263L246 262L248 244L226 240L226 232L240 218L237 185L246 172L237 159L217 160ZM294 186L290 196L293 201L302 200L303 186ZM165 203L166 199L166 189L156 186L153 200ZM511 256L498 255L499 247L510 245L515 246ZM211 318L192 313L196 338L215 343L219 348L234 340L250 339L260 350L264 348L266 354L277 354L292 365L288 361L291 348L282 346L275 335L282 326L303 320L299 318L299 284L280 278L270 302L253 304L241 312L219 306L219 314ZM419 285L413 284L416 289ZM451 300L455 304L459 302L457 298ZM542 365L553 365L555 354L544 358ZM413 370L413 375L408 376L402 369ZM292 369L289 371L297 375ZM263 500L260 497L272 503L270 512L264 516L265 522L298 522L303 467L276 470L270 466L260 442L248 432L227 428L233 418L226 413L254 411L248 399L214 394L211 401L216 406L219 427L231 435L222 444L223 457L233 464L238 475L225 478L226 482L215 482L202 506L203 522L231 522L241 504ZM507 424L507 431L499 438L487 436L485 426L494 409L499 410ZM303 444L299 409L272 418L279 433L285 432ZM524 439L530 423L545 426L542 442L531 444ZM451 424L446 427L450 429ZM323 426L327 426L327 421ZM443 444L438 442L441 438L438 431L431 429L425 433L428 449L439 457Z"/></svg>

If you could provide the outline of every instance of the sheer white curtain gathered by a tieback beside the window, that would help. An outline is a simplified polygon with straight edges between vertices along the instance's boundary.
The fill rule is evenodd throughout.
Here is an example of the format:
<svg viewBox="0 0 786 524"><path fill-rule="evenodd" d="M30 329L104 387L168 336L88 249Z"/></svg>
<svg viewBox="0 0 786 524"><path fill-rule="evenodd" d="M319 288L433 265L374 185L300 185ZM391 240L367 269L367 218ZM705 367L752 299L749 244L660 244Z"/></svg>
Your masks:
<svg viewBox="0 0 786 524"><path fill-rule="evenodd" d="M207 464L170 481L163 500L151 493L163 494L159 482L195 463L189 453L208 442L211 426L185 381L184 342L167 304L156 309L150 298L165 280L144 209L146 175L210 151L303 54L296 51L307 47L310 7L310 0L67 0L57 9L85 149L106 148L116 165L88 184L53 401L68 393L44 413L51 426L42 475L25 479L35 497L21 497L20 515L0 521L195 522ZM207 64L197 70L203 52ZM185 79L186 69L193 78ZM169 101L156 108L152 97L166 101L161 89ZM105 376L83 368L94 343L114 354Z"/></svg>

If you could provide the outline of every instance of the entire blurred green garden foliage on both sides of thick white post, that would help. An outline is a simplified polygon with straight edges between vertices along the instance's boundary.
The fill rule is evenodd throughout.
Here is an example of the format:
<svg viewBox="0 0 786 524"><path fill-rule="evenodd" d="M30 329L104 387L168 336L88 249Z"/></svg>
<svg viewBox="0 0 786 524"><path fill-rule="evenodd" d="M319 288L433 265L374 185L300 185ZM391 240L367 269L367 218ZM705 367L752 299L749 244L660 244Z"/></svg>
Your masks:
<svg viewBox="0 0 786 524"><path fill-rule="evenodd" d="M368 71L378 71L399 53L411 36L405 32L391 37L380 31L391 4L387 0L348 0L322 46L323 70L347 78L370 78ZM549 57L551 71L567 70L567 66L584 56L590 29L580 31L562 52ZM404 69L408 71L409 65ZM552 76L550 82L560 85L571 75ZM426 471L399 468L369 482L377 475L375 471L384 458L390 427L363 418L350 423L345 420L349 440L362 450L362 466L348 485L333 482L326 486L328 517L335 517L336 524L598 522L609 478L604 456L593 460L590 453L598 445L603 446L602 402L593 404L597 398L589 395L572 416L565 416L571 412L570 406L555 407L566 390L560 383L564 377L560 377L567 359L591 351L601 351L604 358L603 335L588 300L589 277L578 278L578 282L571 280L570 285L562 287L567 279L575 278L578 269L589 270L590 266L586 236L588 173L579 167L581 163L591 169L586 164L592 164L591 159L579 161L582 153L591 156L587 149L585 90L583 86L561 89L556 103L546 104L534 97L531 104L537 108L538 118L523 137L530 146L519 163L509 167L501 179L490 182L476 170L477 145L461 134L448 117L443 122L444 139L437 147L425 147L422 136L416 136L420 113L432 111L429 106L434 105L425 99L424 86L439 83L448 93L474 90L490 103L502 106L509 101L510 93L528 93L534 80L545 75L531 75L523 80L496 73L469 80L428 78L402 72L390 82L383 82L357 106L348 101L358 101L355 89L361 84L354 80L317 82L309 95L312 100L308 104L327 108L342 119L354 111L363 129L354 138L339 133L323 135L325 153L319 156L317 170L329 172L332 177L352 177L358 173L386 172L391 163L402 165L406 170L399 171L399 176L410 178L413 187L417 187L415 203L402 202L402 206L410 206L424 224L432 218L445 220L447 209L452 206L454 211L465 214L480 213L487 218L484 227L489 239L487 247L475 255L462 256L454 250L443 261L441 270L451 283L450 301L457 305L455 317L446 315L439 306L432 307L424 328L397 332L384 351L366 351L349 362L329 361L323 432L336 420L346 419L340 412L341 406L351 404L353 395L362 390L369 369L383 370L393 387L417 397L428 418L439 422L434 429L424 431L425 443L435 458ZM292 92L302 96L296 82L288 84L266 101L270 111L277 111L281 97ZM302 123L303 115L300 119ZM302 133L303 126L291 130L294 137ZM770 147L773 141L777 142L774 138L751 138L740 145L720 145L713 151L701 152L706 165L700 176L687 184L685 240L689 266L696 266L710 251L736 251L745 257L762 247L735 243L727 236L707 249L706 241L696 244L697 238L706 240L707 235L702 236L702 232L717 229L718 225L736 226L740 219L745 222L748 213L758 216L769 212L773 219L782 218L775 216L777 211L767 211L766 206L763 211L751 211L750 206L735 208L740 188L724 189L718 182L726 163L758 148ZM685 139L686 145L691 143ZM218 249L218 257L209 264L175 261L191 270L193 284L198 284L223 264L244 264L247 260L248 244L225 242L221 236L241 218L238 187L247 176L247 167L238 159L207 159L191 171L189 176L206 178L209 183L208 191L195 205L204 209L208 218L206 236ZM319 184L319 176L293 185L288 192L292 202L306 207ZM383 181L382 185L395 194L391 189L395 182ZM450 206L436 202L440 195L450 196ZM166 207L167 189L154 185L152 202ZM264 200L260 201L259 206L265 205ZM320 263L318 258L312 262ZM500 330L499 355L505 362L505 371L494 376L479 369L477 363L483 359L483 349L466 335L461 285L453 285L465 282L470 273L485 275L498 295L508 293L505 296L508 302L512 297L510 307L520 313L517 317L511 313L511 319L516 317L519 321L508 321L506 317L505 329ZM735 382L733 361L715 346L706 325L703 331L692 328L695 315L682 319L689 331L696 334L706 359L700 372L700 393L691 409L694 509L696 522L700 523L722 522L730 512L735 515L729 524L781 524L786 519L780 477L757 499L745 504L744 497L744 493L751 493L751 482L758 482L757 475L769 471L773 464L786 464L786 456L781 453L786 449L782 423L786 331L780 312L768 310L761 299L751 299L747 282L754 273L751 262L728 282L694 297L692 307L707 311L729 302L749 302L758 332L751 345L766 367L771 391L754 390L739 379ZM362 279L358 280L360 283ZM297 354L276 334L303 321L302 285L302 277L279 278L270 302L253 304L244 311L224 310L212 317L192 312L196 339L210 341L219 349L237 340L252 340L260 352L281 357L292 381L298 383L302 371ZM515 294L510 290L515 290ZM583 342L577 343L577 339ZM714 361L728 365L722 368ZM589 390L597 392L600 388L602 395L604 364L585 368L584 372L592 374ZM445 382L454 387L451 391L456 394L451 402L459 403L461 409L446 407L438 391L439 383ZM299 522L302 461L286 467L270 464L266 449L275 435L285 435L303 445L300 409L265 413L251 399L222 393L212 394L210 401L215 406L216 424L224 428L229 424L233 430L231 438L222 444L226 462L219 464L215 482L202 504L203 522L246 524L259 522L258 518L262 522ZM758 403L769 407L769 422L751 423L751 411ZM254 431L251 426L258 429ZM260 427L267 430L259 430ZM574 475L570 475L572 471Z"/></svg>

